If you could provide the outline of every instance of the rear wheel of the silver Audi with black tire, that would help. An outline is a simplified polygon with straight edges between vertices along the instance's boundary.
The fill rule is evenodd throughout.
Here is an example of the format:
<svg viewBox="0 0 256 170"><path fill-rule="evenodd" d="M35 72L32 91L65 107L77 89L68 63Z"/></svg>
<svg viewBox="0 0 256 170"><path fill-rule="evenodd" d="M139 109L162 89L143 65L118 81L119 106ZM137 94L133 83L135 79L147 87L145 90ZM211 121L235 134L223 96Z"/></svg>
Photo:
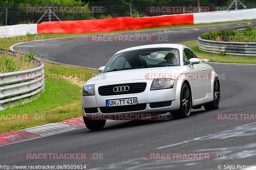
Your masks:
<svg viewBox="0 0 256 170"><path fill-rule="evenodd" d="M220 83L217 79L213 83L213 101L204 105L205 110L219 109L220 107Z"/></svg>

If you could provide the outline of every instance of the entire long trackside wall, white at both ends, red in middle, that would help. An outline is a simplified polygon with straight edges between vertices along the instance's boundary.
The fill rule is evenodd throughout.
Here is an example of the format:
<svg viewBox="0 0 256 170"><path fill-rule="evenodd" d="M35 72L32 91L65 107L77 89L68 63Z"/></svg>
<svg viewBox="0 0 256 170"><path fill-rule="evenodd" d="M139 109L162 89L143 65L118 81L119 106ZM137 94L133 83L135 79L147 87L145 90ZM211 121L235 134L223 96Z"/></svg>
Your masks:
<svg viewBox="0 0 256 170"><path fill-rule="evenodd" d="M83 33L134 30L157 26L214 23L255 19L256 8L236 11L203 12L191 14L162 15L142 18L108 18L93 20L52 21L41 24L0 26L0 35L27 35L39 33Z"/></svg>

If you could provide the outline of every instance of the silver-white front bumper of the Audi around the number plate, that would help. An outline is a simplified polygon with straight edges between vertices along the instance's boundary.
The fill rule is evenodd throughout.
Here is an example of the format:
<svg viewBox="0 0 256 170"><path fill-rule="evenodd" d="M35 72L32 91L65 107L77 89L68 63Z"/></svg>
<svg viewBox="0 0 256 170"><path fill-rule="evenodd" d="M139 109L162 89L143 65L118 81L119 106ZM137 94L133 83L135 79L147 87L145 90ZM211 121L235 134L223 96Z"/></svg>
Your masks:
<svg viewBox="0 0 256 170"><path fill-rule="evenodd" d="M82 111L84 116L88 116L91 114L119 114L119 113L133 113L133 114L140 114L140 113L166 113L174 110L178 110L180 107L180 99L176 99L176 89L161 89L161 90L150 90L151 84L153 80L136 80L136 81L116 81L115 84L122 84L122 83L133 83L133 82L146 82L147 86L144 92L142 93L136 93L136 94L125 94L125 95L114 95L114 96L100 96L98 93L98 88L100 86L105 85L111 85L111 83L100 83L95 84L95 95L94 96L82 96L81 97L81 105L82 105ZM113 99L124 99L124 98L132 98L137 97L137 105L143 105L143 108L140 110L132 110L125 111L121 107L124 106L113 106L113 107L106 107L106 100L113 100ZM163 107L161 107L162 102L169 103L168 105L164 104ZM155 103L155 106L152 107L151 103ZM156 107L156 105L159 103L160 107ZM114 112L109 111L102 111L108 110L115 107ZM136 105L129 105L129 107L137 107ZM93 113L89 111L88 113L87 109L93 109ZM119 111L120 109L120 111Z"/></svg>

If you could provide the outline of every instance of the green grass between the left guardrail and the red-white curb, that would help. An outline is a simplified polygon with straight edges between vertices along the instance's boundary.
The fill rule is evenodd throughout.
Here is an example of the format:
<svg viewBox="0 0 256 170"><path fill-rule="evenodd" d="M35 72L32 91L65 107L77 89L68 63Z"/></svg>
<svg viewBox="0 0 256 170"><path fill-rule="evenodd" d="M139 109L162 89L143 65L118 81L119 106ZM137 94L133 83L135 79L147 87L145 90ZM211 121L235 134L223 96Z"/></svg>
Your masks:
<svg viewBox="0 0 256 170"><path fill-rule="evenodd" d="M45 62L45 91L36 100L0 111L0 133L21 130L43 124L56 123L65 119L81 116L81 87L70 80L49 80L53 75L68 74L86 81L96 70L70 67ZM74 75L72 75L74 74ZM81 76L81 74L84 74ZM58 77L58 76L57 76ZM49 78L47 80L47 78ZM11 114L28 115L21 120L6 120ZM8 116L7 116L8 115Z"/></svg>

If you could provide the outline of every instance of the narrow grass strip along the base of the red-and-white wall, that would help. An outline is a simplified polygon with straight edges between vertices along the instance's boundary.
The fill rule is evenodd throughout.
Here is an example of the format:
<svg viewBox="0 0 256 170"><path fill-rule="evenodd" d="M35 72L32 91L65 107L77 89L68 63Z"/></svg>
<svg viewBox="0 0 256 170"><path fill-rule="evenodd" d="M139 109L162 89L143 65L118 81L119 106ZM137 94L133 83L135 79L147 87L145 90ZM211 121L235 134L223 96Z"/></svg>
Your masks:
<svg viewBox="0 0 256 170"><path fill-rule="evenodd" d="M28 35L28 36L18 36L17 38L13 38L10 41L0 38L0 48L9 49L10 46L19 43L19 42L27 42L35 39L51 39L51 38L61 38L61 37L70 37L70 36L79 36L79 35L95 35L95 34L110 34L110 33L122 33L122 32L136 32L136 31L149 31L149 30L161 30L161 29L171 29L171 28L182 28L182 27L195 27L195 26L206 26L206 25L217 25L217 24L231 24L237 22L245 22L245 21L255 21L252 20L239 20L239 21L229 21L229 22L215 22L215 23L206 23L206 24L186 24L186 25L170 25L170 26L161 26L161 27L151 27L151 28L143 28L137 30L125 30L125 31L113 31L113 32L93 32L93 33L60 33L60 34L37 34L37 35Z"/></svg>

